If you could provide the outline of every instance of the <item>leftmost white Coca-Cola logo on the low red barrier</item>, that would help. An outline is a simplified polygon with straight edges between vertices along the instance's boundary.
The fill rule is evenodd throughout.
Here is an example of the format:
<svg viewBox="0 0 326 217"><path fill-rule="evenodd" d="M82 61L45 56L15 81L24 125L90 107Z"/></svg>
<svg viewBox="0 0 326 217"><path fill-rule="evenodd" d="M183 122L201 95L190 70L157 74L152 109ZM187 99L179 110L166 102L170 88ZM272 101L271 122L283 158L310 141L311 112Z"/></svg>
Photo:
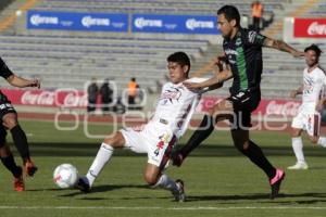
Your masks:
<svg viewBox="0 0 326 217"><path fill-rule="evenodd" d="M22 104L26 105L53 105L54 92L41 91L33 92L26 91L22 95Z"/></svg>

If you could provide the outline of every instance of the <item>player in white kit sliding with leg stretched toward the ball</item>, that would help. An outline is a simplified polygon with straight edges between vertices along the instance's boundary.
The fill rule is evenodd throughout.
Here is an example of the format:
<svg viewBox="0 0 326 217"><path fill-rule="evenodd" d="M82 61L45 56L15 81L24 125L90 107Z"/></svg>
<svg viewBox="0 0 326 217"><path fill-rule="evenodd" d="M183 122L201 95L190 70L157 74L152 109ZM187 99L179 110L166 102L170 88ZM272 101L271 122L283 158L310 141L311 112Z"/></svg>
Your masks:
<svg viewBox="0 0 326 217"><path fill-rule="evenodd" d="M172 180L163 173L173 145L184 135L200 100L200 91L188 90L183 81L188 79L190 60L184 52L167 58L170 82L166 82L153 117L142 128L121 129L104 139L87 175L79 178L76 188L89 192L114 149L128 148L136 153L147 153L145 180L152 187L171 191L176 201L185 201L184 182ZM200 78L188 79L203 81Z"/></svg>

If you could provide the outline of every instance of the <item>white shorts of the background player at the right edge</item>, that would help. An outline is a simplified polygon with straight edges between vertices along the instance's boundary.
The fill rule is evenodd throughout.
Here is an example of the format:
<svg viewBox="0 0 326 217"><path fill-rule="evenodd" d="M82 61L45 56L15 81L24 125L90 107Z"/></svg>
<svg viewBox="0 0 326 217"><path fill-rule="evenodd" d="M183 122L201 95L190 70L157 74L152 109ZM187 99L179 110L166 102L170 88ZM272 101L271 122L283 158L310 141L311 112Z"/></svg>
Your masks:
<svg viewBox="0 0 326 217"><path fill-rule="evenodd" d="M321 114L318 112L299 112L299 114L293 117L291 127L303 129L311 137L318 137L321 131Z"/></svg>

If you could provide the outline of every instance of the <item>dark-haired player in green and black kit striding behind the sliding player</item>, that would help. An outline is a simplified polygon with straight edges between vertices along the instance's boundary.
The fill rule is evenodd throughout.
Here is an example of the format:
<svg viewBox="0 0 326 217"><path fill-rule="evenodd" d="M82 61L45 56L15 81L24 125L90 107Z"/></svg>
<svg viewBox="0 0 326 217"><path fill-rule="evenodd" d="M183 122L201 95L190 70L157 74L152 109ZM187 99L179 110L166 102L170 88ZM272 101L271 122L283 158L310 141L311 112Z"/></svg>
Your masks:
<svg viewBox="0 0 326 217"><path fill-rule="evenodd" d="M174 165L180 166L185 157L212 133L213 120L229 119L235 146L267 175L272 188L271 199L274 199L285 173L272 166L262 150L249 138L251 113L261 101L262 47L285 51L294 58L303 56L304 53L284 41L242 28L239 11L233 5L224 5L217 11L217 25L224 37L224 53L215 59L215 64L221 67L224 63L225 68L204 82L185 85L189 89L198 89L233 78L230 97L222 100L210 111L210 115L204 116L199 129L185 146L172 155L172 159Z"/></svg>

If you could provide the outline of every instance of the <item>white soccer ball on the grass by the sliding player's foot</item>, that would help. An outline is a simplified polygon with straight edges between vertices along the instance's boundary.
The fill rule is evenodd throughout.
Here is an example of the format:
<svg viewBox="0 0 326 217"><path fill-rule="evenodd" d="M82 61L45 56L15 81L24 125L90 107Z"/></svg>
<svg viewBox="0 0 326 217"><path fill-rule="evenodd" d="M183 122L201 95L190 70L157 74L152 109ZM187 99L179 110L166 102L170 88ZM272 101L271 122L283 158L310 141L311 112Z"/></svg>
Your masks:
<svg viewBox="0 0 326 217"><path fill-rule="evenodd" d="M53 173L53 181L61 189L75 186L78 180L78 170L71 164L59 165Z"/></svg>

